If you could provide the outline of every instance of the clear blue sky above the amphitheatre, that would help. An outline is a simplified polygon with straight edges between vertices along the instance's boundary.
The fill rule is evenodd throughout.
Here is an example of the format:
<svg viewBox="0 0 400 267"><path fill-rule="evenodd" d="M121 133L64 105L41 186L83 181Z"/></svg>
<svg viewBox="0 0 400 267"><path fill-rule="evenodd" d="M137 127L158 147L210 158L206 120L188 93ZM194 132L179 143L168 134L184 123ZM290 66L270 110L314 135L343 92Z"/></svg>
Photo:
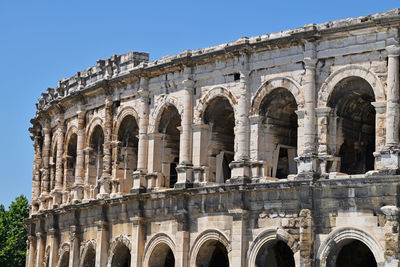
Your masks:
<svg viewBox="0 0 400 267"><path fill-rule="evenodd" d="M152 60L400 7L388 1L19 1L0 2L0 203L31 196L29 120L37 98L97 59L134 51Z"/></svg>

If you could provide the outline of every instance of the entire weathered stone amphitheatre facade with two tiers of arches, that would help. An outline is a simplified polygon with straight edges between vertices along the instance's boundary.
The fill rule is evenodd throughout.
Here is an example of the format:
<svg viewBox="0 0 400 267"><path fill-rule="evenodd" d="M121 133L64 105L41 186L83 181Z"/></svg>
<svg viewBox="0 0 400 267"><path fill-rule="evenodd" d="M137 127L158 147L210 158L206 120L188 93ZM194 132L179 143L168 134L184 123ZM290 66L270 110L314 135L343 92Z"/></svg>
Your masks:
<svg viewBox="0 0 400 267"><path fill-rule="evenodd" d="M32 119L27 266L399 266L400 10L129 52Z"/></svg>

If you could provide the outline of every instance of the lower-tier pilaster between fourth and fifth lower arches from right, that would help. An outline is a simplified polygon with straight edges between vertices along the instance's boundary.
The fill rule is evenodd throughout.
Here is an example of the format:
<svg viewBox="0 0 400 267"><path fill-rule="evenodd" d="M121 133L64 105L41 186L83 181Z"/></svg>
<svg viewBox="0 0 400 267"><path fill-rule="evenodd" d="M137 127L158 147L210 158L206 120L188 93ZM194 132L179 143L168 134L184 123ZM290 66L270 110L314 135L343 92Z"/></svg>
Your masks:
<svg viewBox="0 0 400 267"><path fill-rule="evenodd" d="M144 251L144 221L141 217L130 218L132 222L131 267L141 267Z"/></svg>

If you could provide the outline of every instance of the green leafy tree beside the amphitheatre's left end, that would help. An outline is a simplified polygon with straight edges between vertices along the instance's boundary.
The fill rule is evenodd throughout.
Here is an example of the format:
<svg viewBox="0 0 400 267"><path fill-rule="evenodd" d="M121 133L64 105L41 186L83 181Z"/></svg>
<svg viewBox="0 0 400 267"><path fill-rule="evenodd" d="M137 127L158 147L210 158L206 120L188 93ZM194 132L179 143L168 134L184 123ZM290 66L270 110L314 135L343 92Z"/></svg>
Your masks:
<svg viewBox="0 0 400 267"><path fill-rule="evenodd" d="M23 221L29 216L29 203L25 196L15 199L5 210L0 205L0 266L24 266L27 234Z"/></svg>

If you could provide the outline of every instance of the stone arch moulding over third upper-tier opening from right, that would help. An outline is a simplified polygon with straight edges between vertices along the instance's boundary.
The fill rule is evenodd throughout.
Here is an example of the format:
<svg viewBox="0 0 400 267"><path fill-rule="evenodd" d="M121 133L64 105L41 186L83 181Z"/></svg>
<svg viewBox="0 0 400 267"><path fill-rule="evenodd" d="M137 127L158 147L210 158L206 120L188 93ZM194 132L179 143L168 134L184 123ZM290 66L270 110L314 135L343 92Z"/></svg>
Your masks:
<svg viewBox="0 0 400 267"><path fill-rule="evenodd" d="M210 89L200 99L199 103L197 103L193 114L193 121L195 124L200 124L202 122L204 111L206 110L208 104L216 97L226 98L232 106L234 115L237 114L237 98L228 89L218 86Z"/></svg>

